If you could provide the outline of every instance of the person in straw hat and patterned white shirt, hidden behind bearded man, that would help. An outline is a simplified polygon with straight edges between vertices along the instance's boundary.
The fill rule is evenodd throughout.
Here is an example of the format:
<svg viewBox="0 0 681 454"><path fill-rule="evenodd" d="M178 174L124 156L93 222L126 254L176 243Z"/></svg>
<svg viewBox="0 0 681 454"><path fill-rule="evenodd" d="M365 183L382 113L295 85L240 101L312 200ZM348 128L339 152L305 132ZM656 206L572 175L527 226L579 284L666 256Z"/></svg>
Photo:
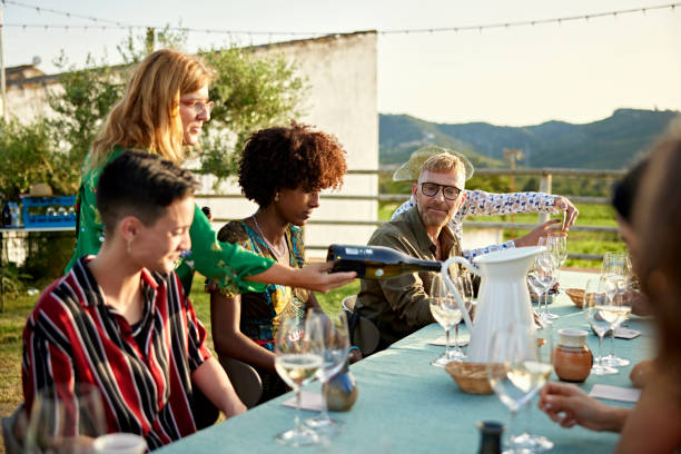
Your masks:
<svg viewBox="0 0 681 454"><path fill-rule="evenodd" d="M438 147L435 145L427 145L421 147L412 154L409 160L403 164L393 174L394 181L414 181L418 177L421 166L423 162L433 155L447 152L458 157L466 168L466 179L473 176L473 165L463 156L461 152ZM494 215L507 215L507 214L520 214L520 213L555 213L557 210L565 211L565 225L562 226L564 230L568 230L576 220L579 211L572 205L572 203L563 196L553 196L544 193L511 193L511 194L491 194L483 190L470 190L464 191L466 198L458 209L450 227L454 230L454 235L461 241L463 231L463 220L468 216L494 216ZM393 219L402 213L408 210L414 206L414 198L402 204L393 214ZM539 238L545 236L549 233L556 231L559 229L551 228L552 225L559 223L553 219L544 223L526 235L509 240L501 245L490 245L477 249L463 249L462 255L468 260L475 258L478 255L488 254L495 250L507 249L512 247L522 246L536 246Z"/></svg>

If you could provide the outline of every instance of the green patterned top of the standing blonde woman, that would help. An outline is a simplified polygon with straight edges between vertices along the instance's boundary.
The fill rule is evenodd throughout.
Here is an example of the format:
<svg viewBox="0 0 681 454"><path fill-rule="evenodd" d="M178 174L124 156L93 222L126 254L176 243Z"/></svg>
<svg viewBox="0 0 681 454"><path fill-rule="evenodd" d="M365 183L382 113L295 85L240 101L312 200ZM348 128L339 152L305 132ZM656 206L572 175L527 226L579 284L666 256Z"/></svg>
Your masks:
<svg viewBox="0 0 681 454"><path fill-rule="evenodd" d="M76 200L78 213L76 250L67 265L67 272L80 257L95 255L101 248L105 233L101 216L97 209L97 184L103 167L122 151L121 147L114 148L105 164L90 170L86 170L89 156L85 159L82 179ZM125 176L121 175L121 178ZM195 206L189 236L191 237L191 249L184 254L176 269L184 284L191 280L196 270L225 289L237 293L265 290L267 284L251 283L244 278L267 270L275 260L250 253L238 245L218 241L210 221L198 206Z"/></svg>

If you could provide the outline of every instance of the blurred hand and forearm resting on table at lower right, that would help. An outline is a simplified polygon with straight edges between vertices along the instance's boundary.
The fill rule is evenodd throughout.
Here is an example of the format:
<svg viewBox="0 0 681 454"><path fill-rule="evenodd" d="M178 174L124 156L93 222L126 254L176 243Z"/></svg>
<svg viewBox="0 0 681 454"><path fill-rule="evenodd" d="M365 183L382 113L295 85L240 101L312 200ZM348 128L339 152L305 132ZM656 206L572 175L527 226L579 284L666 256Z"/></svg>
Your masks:
<svg viewBox="0 0 681 454"><path fill-rule="evenodd" d="M563 427L581 425L598 432L620 432L631 412L602 404L574 385L553 382L542 388L539 407Z"/></svg>

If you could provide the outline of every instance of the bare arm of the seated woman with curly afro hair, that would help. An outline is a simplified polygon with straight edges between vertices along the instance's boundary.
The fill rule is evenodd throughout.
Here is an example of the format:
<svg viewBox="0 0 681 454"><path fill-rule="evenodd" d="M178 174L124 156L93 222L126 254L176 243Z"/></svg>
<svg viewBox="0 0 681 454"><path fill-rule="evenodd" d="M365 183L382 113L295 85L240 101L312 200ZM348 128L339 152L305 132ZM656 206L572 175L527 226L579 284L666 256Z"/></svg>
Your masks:
<svg viewBox="0 0 681 454"><path fill-rule="evenodd" d="M274 372L274 353L263 348L241 333L241 296L231 297L219 290L210 293L210 329L219 355L229 356Z"/></svg>

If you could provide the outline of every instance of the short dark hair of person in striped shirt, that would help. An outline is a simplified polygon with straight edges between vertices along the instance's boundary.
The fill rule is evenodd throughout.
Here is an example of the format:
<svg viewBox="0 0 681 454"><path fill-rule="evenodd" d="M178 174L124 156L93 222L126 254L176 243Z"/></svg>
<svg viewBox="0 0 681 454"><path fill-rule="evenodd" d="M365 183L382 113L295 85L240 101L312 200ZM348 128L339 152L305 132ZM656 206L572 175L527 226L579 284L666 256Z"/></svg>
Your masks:
<svg viewBox="0 0 681 454"><path fill-rule="evenodd" d="M125 216L151 226L176 200L194 195L197 182L189 170L158 155L125 151L102 170L97 185L97 208L110 234Z"/></svg>

